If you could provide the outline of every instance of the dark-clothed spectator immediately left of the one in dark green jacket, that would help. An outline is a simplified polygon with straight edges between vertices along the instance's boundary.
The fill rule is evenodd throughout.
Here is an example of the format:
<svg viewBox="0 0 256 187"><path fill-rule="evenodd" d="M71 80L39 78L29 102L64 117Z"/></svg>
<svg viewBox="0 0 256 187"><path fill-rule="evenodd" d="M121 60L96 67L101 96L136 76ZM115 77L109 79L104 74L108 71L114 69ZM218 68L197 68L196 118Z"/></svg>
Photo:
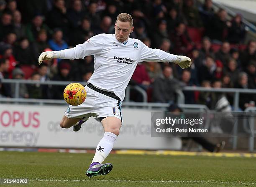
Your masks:
<svg viewBox="0 0 256 187"><path fill-rule="evenodd" d="M13 27L17 40L26 36L26 26L21 23L21 13L18 10L13 13Z"/></svg>

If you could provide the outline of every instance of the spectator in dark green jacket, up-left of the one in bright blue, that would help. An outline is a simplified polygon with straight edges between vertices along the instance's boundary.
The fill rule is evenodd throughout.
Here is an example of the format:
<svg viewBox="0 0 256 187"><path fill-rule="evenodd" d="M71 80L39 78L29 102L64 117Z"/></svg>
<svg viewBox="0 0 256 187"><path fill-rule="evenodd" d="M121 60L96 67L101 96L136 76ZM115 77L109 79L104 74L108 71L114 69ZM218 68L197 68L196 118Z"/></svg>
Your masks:
<svg viewBox="0 0 256 187"><path fill-rule="evenodd" d="M28 40L30 42L34 42L36 40L36 37L38 36L38 33L41 30L46 30L46 32L51 33L51 30L47 25L43 23L43 16L42 15L36 15L32 23L29 23L26 28L26 34L28 36Z"/></svg>

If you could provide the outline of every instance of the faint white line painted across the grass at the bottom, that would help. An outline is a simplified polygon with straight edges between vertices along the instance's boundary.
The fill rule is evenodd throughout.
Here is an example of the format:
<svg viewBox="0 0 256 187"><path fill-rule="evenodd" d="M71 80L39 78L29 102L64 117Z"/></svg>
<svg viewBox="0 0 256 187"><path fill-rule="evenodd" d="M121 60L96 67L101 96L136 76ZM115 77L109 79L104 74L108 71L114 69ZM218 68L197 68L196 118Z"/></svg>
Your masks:
<svg viewBox="0 0 256 187"><path fill-rule="evenodd" d="M219 184L256 184L256 183L249 183L249 182L221 182L221 181L203 181L203 180L195 180L195 181L179 181L179 180L99 180L99 179L87 179L87 180L59 180L59 179L29 179L30 181L45 181L45 182L92 182L92 181L99 181L99 182L151 182L151 183L219 183Z"/></svg>

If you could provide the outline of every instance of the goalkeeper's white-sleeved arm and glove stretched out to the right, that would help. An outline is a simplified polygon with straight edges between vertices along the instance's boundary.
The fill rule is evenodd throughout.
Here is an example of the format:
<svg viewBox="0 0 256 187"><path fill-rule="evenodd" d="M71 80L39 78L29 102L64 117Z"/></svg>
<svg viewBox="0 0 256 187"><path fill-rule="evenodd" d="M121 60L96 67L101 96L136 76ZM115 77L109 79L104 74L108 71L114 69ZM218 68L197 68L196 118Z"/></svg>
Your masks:
<svg viewBox="0 0 256 187"><path fill-rule="evenodd" d="M187 56L178 56L166 53L160 49L148 48L141 42L141 58L140 61L146 62L174 62L177 63L182 69L189 68L191 59Z"/></svg>

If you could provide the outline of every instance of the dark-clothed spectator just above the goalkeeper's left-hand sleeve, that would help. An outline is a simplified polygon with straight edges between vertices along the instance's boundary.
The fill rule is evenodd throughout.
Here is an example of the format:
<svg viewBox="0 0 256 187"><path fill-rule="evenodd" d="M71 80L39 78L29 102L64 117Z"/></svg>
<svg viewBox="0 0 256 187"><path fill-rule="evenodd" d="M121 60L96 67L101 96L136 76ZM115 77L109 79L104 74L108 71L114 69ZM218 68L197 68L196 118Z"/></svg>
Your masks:
<svg viewBox="0 0 256 187"><path fill-rule="evenodd" d="M74 30L74 33L71 34L70 38L73 38L70 42L72 46L77 44L84 43L86 40L91 38L94 33L91 30L91 21L89 18L82 19L82 24L79 28Z"/></svg>

